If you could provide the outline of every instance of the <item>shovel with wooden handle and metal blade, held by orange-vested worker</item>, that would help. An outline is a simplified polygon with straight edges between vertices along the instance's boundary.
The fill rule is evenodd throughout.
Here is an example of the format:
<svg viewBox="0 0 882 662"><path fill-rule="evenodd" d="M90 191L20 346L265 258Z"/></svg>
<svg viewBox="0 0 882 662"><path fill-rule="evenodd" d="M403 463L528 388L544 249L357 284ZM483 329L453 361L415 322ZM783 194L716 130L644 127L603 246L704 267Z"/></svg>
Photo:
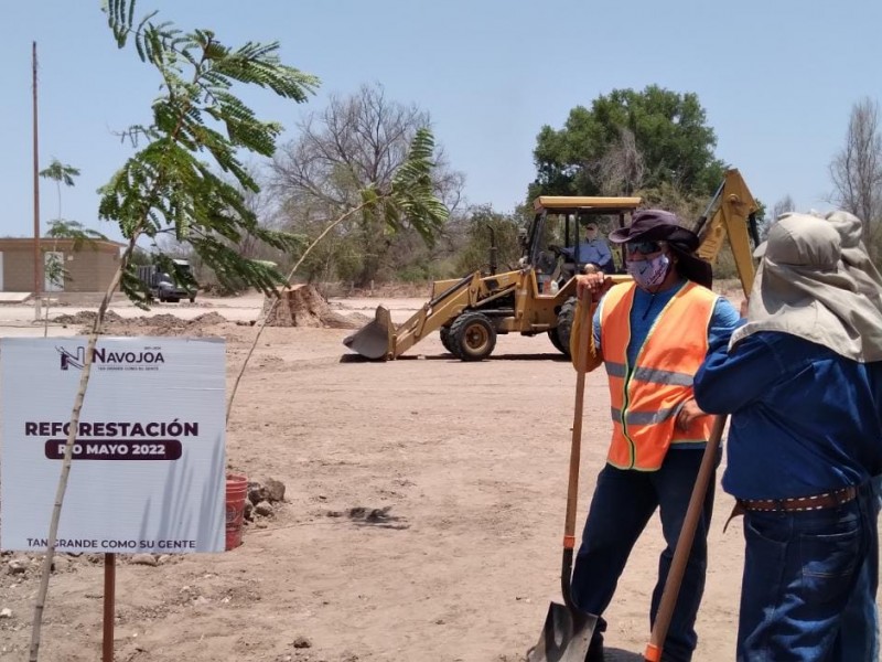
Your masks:
<svg viewBox="0 0 882 662"><path fill-rule="evenodd" d="M576 407L572 418L572 448L570 450L570 479L567 489L567 517L563 525L563 558L560 586L563 605L551 602L545 618L539 642L527 653L527 662L583 662L598 624L593 613L580 611L572 601L572 553L576 546L576 501L579 495L579 459L582 447L582 408L585 392L585 365L588 363L588 334L590 332L591 292L585 291L581 300L579 327L579 364L576 366Z"/></svg>

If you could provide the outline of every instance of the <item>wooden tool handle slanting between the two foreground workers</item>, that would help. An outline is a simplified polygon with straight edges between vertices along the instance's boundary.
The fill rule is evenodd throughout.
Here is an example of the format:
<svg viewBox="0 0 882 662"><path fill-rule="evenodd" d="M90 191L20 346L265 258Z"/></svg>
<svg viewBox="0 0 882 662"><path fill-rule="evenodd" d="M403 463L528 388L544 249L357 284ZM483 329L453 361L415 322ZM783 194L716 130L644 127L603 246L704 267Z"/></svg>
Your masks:
<svg viewBox="0 0 882 662"><path fill-rule="evenodd" d="M653 631L649 634L649 643L643 658L646 662L660 662L664 652L665 639L668 636L670 619L674 616L674 607L677 605L677 597L680 595L680 584L686 572L686 563L689 560L689 553L692 551L692 541L696 537L698 520L704 506L704 496L708 493L710 477L717 466L717 451L720 448L720 438L723 436L725 427L725 416L718 416L713 421L713 429L710 439L704 446L704 455L701 458L701 466L698 469L696 484L692 488L692 495L689 498L689 506L686 509L686 519L680 528L680 536L677 538L677 548L674 549L674 558L670 562L670 570L665 580L665 588L662 591L662 600L658 604L658 611L655 616Z"/></svg>

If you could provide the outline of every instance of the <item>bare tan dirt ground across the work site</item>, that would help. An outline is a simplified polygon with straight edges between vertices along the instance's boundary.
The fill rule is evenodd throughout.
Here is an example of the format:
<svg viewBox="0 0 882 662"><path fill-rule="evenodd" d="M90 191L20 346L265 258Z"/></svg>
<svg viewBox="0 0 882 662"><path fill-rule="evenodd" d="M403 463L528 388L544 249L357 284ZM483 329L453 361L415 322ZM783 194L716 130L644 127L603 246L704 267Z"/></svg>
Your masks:
<svg viewBox="0 0 882 662"><path fill-rule="evenodd" d="M401 319L419 302L390 303ZM375 303L335 306L366 313ZM23 320L33 316L21 308ZM120 319L111 332L223 335L232 385L259 309L254 297L168 305L153 312L197 319ZM198 318L211 312L222 319ZM14 317L0 316L0 333L28 327ZM346 360L348 333L265 331L239 386L227 458L252 479L282 481L286 503L225 554L155 567L120 557L116 660L514 662L536 642L549 601L560 600L574 371L545 337L501 337L491 360L462 363L433 334L409 356L367 363ZM599 372L587 381L580 527L609 431ZM699 662L734 659L743 543L740 520L722 531L731 503L718 490ZM656 516L606 615L613 660L642 660L662 546ZM0 660L26 659L39 572L8 565L30 558L0 557L0 610L11 612L0 616ZM61 557L41 660L99 659L100 562Z"/></svg>

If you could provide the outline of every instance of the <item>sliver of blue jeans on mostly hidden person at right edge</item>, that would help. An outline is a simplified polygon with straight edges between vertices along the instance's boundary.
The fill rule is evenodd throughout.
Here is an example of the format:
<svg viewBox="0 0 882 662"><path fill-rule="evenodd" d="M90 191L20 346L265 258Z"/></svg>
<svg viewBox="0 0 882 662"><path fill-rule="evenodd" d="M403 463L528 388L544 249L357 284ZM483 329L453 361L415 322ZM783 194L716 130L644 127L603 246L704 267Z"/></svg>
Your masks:
<svg viewBox="0 0 882 662"><path fill-rule="evenodd" d="M882 476L873 479L875 493L873 505L875 520L882 506ZM876 662L879 660L879 609L875 604L879 587L879 538L870 540L870 553L858 576L858 586L851 596L846 611L842 613L840 639L842 641L842 659L856 662Z"/></svg>

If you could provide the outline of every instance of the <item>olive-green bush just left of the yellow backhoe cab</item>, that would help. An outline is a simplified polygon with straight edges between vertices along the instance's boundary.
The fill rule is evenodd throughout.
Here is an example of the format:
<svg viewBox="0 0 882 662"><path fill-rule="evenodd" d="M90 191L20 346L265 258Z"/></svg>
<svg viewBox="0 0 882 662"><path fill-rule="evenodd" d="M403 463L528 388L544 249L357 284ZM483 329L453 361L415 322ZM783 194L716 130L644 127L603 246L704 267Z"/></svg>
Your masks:
<svg viewBox="0 0 882 662"><path fill-rule="evenodd" d="M459 274L464 276L476 270L488 271L491 236L495 236L498 248L498 270L514 268L520 257L517 232L518 222L515 217L494 212L490 206L474 210L467 220L467 243L456 260Z"/></svg>

